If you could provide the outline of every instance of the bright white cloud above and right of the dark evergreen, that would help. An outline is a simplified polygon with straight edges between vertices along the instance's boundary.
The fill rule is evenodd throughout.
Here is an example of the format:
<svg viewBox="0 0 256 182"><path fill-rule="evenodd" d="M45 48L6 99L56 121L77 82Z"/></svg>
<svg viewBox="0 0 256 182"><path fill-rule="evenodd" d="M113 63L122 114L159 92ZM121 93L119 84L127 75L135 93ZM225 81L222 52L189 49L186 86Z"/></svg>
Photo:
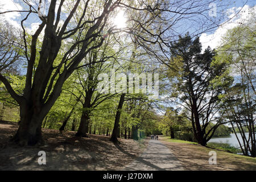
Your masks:
<svg viewBox="0 0 256 182"><path fill-rule="evenodd" d="M237 14L238 11L240 11L239 14ZM232 18L232 20L218 27L213 34L201 34L200 42L202 43L202 51L204 51L208 46L210 46L210 48L212 49L219 47L221 44L222 36L224 36L229 29L238 26L241 22L247 22L247 20L252 15L251 13L249 14L249 11L254 11L254 13L256 13L256 5L254 7L249 7L248 5L245 5L243 8L232 7L231 9L228 9L226 13L228 14L229 18Z"/></svg>

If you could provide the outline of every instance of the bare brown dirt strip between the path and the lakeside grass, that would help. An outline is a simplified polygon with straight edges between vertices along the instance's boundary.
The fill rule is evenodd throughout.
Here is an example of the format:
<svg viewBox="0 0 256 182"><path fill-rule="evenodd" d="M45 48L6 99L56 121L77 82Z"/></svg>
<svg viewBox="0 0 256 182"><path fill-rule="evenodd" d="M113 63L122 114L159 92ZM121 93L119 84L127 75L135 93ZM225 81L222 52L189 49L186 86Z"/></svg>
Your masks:
<svg viewBox="0 0 256 182"><path fill-rule="evenodd" d="M170 148L185 170L256 170L255 158L217 151L197 144L168 142L161 137L160 141ZM216 151L216 165L209 164L209 151Z"/></svg>

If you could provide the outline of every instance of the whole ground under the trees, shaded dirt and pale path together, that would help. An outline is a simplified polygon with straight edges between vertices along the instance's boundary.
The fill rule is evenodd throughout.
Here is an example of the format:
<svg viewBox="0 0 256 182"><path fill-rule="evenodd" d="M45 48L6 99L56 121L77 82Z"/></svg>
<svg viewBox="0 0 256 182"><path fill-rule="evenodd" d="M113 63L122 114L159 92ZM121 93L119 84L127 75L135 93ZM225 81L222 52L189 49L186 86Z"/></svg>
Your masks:
<svg viewBox="0 0 256 182"><path fill-rule="evenodd" d="M174 142L167 137L158 141L119 139L89 135L75 137L75 132L60 134L42 129L46 145L18 147L9 143L18 125L0 122L0 170L254 170L256 158L230 154L198 144ZM209 151L216 151L217 164L210 165ZM38 152L46 152L46 165L38 164Z"/></svg>

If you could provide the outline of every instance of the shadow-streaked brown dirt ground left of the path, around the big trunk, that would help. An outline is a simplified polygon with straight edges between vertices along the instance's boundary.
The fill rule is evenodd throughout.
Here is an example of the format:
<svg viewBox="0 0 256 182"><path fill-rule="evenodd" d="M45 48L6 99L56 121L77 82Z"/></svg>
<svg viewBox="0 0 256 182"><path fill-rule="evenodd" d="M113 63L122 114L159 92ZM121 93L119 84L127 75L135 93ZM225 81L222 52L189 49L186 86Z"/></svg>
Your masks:
<svg viewBox="0 0 256 182"><path fill-rule="evenodd" d="M45 146L18 147L8 142L16 129L16 123L0 122L0 170L118 170L146 147L143 141L119 139L113 144L102 135L79 138L72 131L50 129L42 129ZM38 164L39 151L46 152L46 165Z"/></svg>

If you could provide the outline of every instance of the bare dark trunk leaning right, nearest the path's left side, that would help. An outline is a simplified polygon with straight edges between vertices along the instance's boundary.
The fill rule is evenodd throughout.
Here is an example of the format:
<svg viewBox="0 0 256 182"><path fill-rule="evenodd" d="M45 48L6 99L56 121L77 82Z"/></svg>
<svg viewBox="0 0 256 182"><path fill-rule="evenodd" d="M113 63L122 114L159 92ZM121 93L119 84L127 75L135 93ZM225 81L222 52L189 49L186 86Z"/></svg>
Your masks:
<svg viewBox="0 0 256 182"><path fill-rule="evenodd" d="M121 94L120 100L119 100L119 104L117 107L117 114L115 115L115 123L114 123L114 128L112 131L112 135L110 138L110 141L112 142L118 142L118 133L119 133L119 120L120 120L120 116L121 116L121 111L122 111L122 107L123 107L123 102L125 101L125 93Z"/></svg>

